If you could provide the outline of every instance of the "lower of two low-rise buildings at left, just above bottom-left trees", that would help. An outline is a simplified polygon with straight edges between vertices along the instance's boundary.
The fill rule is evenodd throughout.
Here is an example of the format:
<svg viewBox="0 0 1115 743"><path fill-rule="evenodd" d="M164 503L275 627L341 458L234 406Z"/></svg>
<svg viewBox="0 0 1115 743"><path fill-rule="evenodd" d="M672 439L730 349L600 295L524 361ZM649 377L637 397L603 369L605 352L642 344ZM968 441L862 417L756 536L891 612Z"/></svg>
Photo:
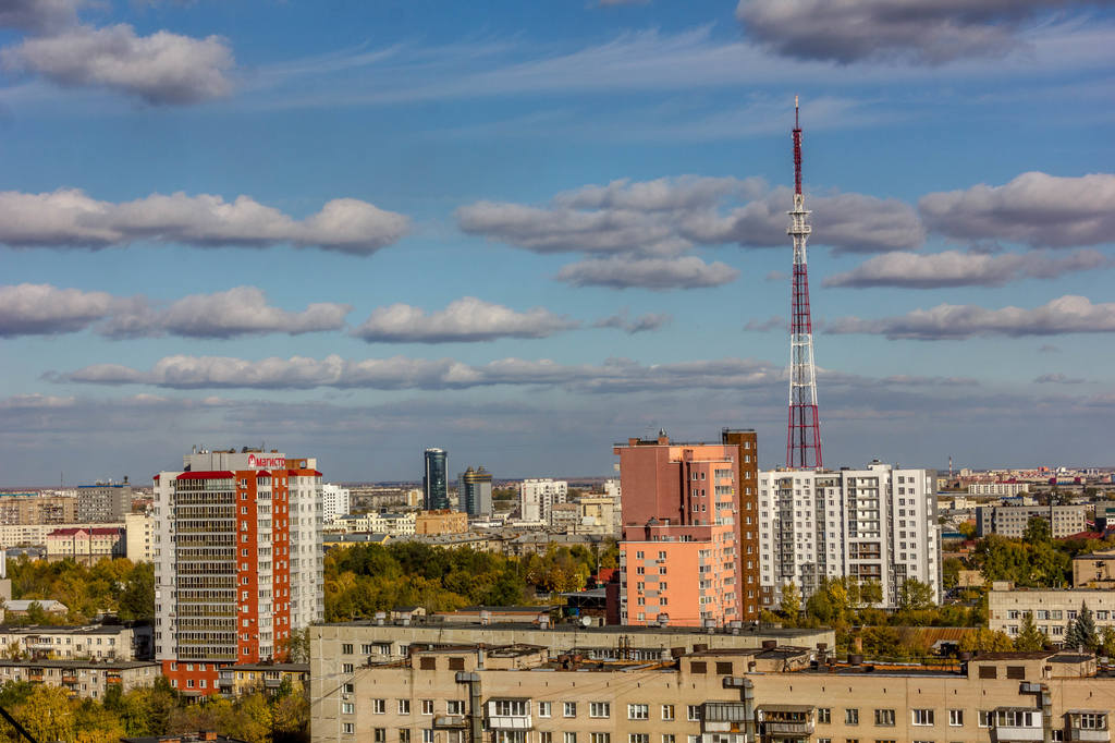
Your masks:
<svg viewBox="0 0 1115 743"><path fill-rule="evenodd" d="M130 692L151 686L162 674L158 664L144 660L6 660L0 659L0 683L31 682L59 686L80 698L103 699L118 686Z"/></svg>

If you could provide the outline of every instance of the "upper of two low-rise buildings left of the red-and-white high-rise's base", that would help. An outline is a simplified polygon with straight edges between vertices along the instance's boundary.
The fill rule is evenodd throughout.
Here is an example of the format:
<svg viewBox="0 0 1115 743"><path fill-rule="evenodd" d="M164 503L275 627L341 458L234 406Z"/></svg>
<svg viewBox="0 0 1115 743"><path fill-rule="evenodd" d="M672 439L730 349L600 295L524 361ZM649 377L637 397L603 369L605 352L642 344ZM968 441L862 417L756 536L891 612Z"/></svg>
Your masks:
<svg viewBox="0 0 1115 743"><path fill-rule="evenodd" d="M153 649L148 624L0 625L0 656L9 659L146 660L152 657Z"/></svg>

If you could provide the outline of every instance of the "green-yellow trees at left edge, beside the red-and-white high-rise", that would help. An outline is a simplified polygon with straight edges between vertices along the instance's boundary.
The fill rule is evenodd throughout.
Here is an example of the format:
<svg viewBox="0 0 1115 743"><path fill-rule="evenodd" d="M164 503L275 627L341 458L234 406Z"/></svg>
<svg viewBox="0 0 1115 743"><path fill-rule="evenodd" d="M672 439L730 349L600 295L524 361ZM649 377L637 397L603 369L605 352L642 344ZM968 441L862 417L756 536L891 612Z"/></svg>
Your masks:
<svg viewBox="0 0 1115 743"><path fill-rule="evenodd" d="M13 599L61 601L67 615L43 611L31 606L27 617L8 615L8 624L80 625L98 614L115 614L125 621L155 616L155 568L149 562L125 558L104 558L93 566L74 560L9 560Z"/></svg>

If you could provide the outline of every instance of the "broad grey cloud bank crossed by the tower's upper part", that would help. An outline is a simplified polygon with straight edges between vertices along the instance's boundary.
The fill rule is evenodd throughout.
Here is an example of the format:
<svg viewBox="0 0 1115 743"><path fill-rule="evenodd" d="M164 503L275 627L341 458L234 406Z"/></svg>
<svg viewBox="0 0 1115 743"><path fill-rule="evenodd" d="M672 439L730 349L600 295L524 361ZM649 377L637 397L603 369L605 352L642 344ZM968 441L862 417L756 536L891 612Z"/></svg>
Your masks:
<svg viewBox="0 0 1115 743"><path fill-rule="evenodd" d="M792 203L789 189L760 178L686 175L586 185L543 206L482 201L462 206L456 218L469 234L534 252L662 260L698 245L784 247ZM833 192L809 195L808 204L823 225L814 242L838 252L909 250L925 238L913 208L896 200ZM570 268L569 274L583 272Z"/></svg>

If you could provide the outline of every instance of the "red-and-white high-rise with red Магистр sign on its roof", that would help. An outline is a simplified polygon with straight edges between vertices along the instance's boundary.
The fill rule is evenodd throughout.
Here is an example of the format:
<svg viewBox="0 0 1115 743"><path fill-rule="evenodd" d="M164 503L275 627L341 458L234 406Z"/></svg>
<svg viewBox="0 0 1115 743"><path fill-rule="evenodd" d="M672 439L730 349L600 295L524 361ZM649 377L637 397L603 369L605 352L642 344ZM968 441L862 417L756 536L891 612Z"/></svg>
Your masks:
<svg viewBox="0 0 1115 743"><path fill-rule="evenodd" d="M155 475L155 658L212 694L323 614L321 473L278 452L201 452Z"/></svg>

